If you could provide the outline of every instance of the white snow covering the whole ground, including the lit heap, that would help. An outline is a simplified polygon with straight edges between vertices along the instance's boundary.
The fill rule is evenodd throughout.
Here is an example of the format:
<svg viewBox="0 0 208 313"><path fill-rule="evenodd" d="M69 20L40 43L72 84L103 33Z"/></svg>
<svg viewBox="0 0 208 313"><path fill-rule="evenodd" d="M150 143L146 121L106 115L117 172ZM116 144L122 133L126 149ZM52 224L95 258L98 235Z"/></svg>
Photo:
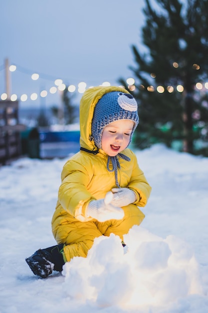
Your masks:
<svg viewBox="0 0 208 313"><path fill-rule="evenodd" d="M208 158L157 144L135 151L153 190L146 217L120 238L96 238L62 273L33 275L25 257L51 233L67 158L0 167L1 313L207 313Z"/></svg>

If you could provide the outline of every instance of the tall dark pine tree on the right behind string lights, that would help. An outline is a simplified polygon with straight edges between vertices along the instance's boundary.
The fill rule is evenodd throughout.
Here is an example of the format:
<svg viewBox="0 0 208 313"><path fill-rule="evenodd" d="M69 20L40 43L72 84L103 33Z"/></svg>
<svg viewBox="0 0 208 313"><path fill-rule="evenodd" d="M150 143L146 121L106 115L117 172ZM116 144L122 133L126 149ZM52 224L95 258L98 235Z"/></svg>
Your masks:
<svg viewBox="0 0 208 313"><path fill-rule="evenodd" d="M141 148L158 141L172 146L180 140L183 150L197 153L195 140L208 140L204 86L208 79L208 0L156 3L158 9L145 0L145 52L132 46L136 67L130 68L135 75L133 94L140 116L137 143ZM127 87L124 79L120 82ZM198 82L203 84L202 90L196 88ZM177 86L184 88L183 92ZM199 152L208 154L208 148Z"/></svg>

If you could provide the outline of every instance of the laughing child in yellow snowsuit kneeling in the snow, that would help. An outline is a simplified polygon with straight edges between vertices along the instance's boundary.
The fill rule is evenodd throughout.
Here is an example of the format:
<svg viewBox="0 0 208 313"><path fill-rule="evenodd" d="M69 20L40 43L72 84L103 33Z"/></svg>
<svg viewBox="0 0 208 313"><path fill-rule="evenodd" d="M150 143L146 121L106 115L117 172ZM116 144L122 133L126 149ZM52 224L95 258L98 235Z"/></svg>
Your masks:
<svg viewBox="0 0 208 313"><path fill-rule="evenodd" d="M127 146L139 122L137 102L124 88L92 87L80 101L80 151L63 166L52 232L57 245L26 258L35 275L62 271L74 256L86 257L93 240L121 238L139 225L151 192L136 155ZM121 153L122 152L122 153Z"/></svg>

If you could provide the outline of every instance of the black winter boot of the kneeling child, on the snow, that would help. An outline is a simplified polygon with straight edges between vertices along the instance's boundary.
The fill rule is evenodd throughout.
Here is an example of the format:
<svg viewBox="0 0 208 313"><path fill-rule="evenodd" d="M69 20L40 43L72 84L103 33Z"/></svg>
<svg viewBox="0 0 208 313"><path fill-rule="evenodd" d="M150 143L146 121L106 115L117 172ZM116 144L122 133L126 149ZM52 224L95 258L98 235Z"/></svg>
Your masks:
<svg viewBox="0 0 208 313"><path fill-rule="evenodd" d="M25 261L35 275L46 278L54 270L62 271L63 264L63 244L50 246L49 248L39 249Z"/></svg>

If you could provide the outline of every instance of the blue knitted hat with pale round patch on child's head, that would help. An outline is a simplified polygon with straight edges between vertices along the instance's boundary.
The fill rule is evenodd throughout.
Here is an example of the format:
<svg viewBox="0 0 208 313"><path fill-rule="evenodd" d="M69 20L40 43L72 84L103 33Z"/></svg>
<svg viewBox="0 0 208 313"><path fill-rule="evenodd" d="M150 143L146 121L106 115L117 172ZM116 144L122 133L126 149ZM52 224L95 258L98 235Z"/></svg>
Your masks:
<svg viewBox="0 0 208 313"><path fill-rule="evenodd" d="M133 95L121 91L105 93L95 106L92 119L92 137L98 148L101 148L102 132L106 125L118 119L131 119L134 121L132 135L139 122L137 102Z"/></svg>

